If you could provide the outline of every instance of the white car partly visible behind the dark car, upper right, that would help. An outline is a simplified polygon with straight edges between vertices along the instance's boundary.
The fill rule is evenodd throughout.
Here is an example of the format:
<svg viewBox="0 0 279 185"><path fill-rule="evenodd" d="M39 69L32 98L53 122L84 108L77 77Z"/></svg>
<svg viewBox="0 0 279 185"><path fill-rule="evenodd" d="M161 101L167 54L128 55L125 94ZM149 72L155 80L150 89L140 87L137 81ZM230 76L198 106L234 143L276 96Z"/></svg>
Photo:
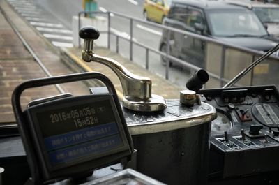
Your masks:
<svg viewBox="0 0 279 185"><path fill-rule="evenodd" d="M226 2L253 10L257 17L259 17L259 20L267 27L269 34L273 34L279 38L279 4L236 0L229 0Z"/></svg>

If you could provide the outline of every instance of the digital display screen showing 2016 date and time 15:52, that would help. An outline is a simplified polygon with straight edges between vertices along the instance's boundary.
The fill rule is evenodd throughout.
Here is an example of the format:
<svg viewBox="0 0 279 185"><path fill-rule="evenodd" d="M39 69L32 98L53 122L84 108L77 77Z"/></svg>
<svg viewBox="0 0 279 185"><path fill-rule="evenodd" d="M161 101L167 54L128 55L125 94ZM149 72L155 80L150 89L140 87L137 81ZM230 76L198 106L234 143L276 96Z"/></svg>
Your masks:
<svg viewBox="0 0 279 185"><path fill-rule="evenodd" d="M27 111L48 168L56 170L127 149L112 96L92 97L63 98Z"/></svg>

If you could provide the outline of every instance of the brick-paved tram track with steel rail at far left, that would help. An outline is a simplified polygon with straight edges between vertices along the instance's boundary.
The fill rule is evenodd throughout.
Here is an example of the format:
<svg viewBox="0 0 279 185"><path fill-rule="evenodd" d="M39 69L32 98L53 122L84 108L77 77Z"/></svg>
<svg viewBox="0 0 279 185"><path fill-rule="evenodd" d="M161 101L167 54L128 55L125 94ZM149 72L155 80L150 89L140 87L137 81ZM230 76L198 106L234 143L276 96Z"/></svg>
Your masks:
<svg viewBox="0 0 279 185"><path fill-rule="evenodd" d="M11 94L18 84L73 71L61 61L59 48L50 47L6 1L0 1L0 8L0 125L10 126L15 124ZM30 89L24 92L22 104L26 106L33 99L65 92L89 94L89 89L82 82Z"/></svg>

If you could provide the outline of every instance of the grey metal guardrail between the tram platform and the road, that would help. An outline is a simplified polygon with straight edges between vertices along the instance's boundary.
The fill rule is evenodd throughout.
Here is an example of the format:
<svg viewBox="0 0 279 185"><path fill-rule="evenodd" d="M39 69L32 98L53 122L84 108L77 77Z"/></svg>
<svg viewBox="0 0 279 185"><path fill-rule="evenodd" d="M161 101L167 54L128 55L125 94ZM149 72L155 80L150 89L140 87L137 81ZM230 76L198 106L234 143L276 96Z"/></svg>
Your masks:
<svg viewBox="0 0 279 185"><path fill-rule="evenodd" d="M183 31L181 29L175 29L175 28L172 28L172 27L167 27L165 25L156 24L154 22L146 22L145 20L141 20L141 19L136 18L136 17L130 17L128 15L123 15L121 13L115 13L115 12L103 13L103 12L81 11L80 13L78 13L78 30L80 30L80 25L81 25L80 24L80 17L81 17L81 15L85 15L85 14L107 15L107 31L100 31L100 34L103 34L103 33L107 34L107 47L109 49L111 47L110 46L110 40L111 40L110 36L111 35L116 36L116 52L119 52L119 38L129 41L129 44L130 44L130 53L129 53L130 61L133 61L133 45L137 45L139 47L144 48L144 50L146 50L145 51L146 52L146 57L145 57L145 60L146 60L145 61L145 68L146 69L149 69L149 53L150 52L153 52L155 54L159 54L160 57L166 57L166 59L167 59L166 64L167 65L166 65L166 71L165 71L165 79L167 79L167 80L169 79L169 61L172 61L172 63L175 63L175 64L179 64L183 67L189 68L191 71L197 71L200 68L198 66L195 66L193 64L188 63L187 61L183 61L183 60L178 59L176 57L172 57L169 54L169 48L170 48L169 36L167 37L167 42L166 42L167 43L167 52L166 53L165 52L160 52L160 50L158 50L158 49L154 49L152 47L149 47L148 45L145 45L144 43L140 43L140 42L137 42L136 40L133 40L133 24L135 22L146 24L146 25L149 25L149 26L152 26L152 27L157 27L157 28L160 28L162 30L167 30L168 35L171 31L173 31L177 34L183 34L184 36L189 36L189 37L192 37L192 38L195 38L195 39L198 39L198 40L202 40L203 42L206 43L206 45L213 44L213 45L218 45L219 47L221 47L220 72L219 72L219 74L213 73L212 71L206 69L209 73L209 76L219 82L220 87L223 87L223 85L225 83L229 82L229 79L227 77L225 77L226 76L225 75L225 61L226 61L226 57L227 57L226 56L226 53L227 53L226 51L227 50L234 50L234 51L239 51L241 53L250 54L252 56L252 60L248 61L248 62L251 62L251 63L252 63L252 61L255 61L255 59L257 57L262 56L262 54L264 54L264 52L259 52L257 50L251 50L247 47L241 47L241 46L238 46L238 45L228 44L228 43L225 43L221 40L216 40L216 39L209 38L209 37L206 37L206 36L202 36L202 35L199 35L199 34L193 34L193 33L190 33L188 31ZM114 15L114 17L118 16L118 17L122 17L124 19L129 20L129 22L130 22L130 27L129 27L130 38L126 38L126 37L114 34L111 31L111 29L110 29L111 15ZM80 47L80 39L79 39L79 47ZM279 57L271 56L271 57L269 57L269 59L273 59L273 60L278 61L278 69L279 69ZM253 85L252 77L253 77L253 73L251 74L250 84L247 84L247 85Z"/></svg>

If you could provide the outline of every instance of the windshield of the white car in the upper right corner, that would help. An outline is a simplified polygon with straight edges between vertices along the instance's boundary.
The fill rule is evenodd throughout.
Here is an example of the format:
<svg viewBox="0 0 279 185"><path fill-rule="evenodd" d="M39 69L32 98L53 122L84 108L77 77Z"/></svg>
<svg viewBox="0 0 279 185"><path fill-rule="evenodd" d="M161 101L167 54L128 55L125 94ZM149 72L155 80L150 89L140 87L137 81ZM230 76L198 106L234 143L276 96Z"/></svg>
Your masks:
<svg viewBox="0 0 279 185"><path fill-rule="evenodd" d="M279 7L278 8L254 8L255 14L262 22L279 23Z"/></svg>

